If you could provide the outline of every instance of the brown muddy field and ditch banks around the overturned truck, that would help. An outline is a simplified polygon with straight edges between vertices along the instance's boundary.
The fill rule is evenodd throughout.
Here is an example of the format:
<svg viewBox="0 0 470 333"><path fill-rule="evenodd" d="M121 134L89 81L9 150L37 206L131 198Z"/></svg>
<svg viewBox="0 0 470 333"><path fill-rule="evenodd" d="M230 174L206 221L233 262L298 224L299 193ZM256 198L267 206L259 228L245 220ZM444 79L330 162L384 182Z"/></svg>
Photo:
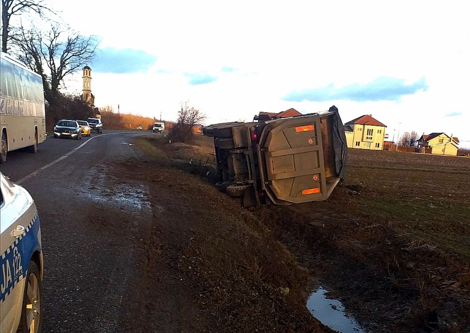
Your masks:
<svg viewBox="0 0 470 333"><path fill-rule="evenodd" d="M329 200L248 211L201 176L205 138L136 143L152 197L188 221L177 271L220 331L321 330L305 310L321 285L371 332L470 332L470 159L350 151Z"/></svg>

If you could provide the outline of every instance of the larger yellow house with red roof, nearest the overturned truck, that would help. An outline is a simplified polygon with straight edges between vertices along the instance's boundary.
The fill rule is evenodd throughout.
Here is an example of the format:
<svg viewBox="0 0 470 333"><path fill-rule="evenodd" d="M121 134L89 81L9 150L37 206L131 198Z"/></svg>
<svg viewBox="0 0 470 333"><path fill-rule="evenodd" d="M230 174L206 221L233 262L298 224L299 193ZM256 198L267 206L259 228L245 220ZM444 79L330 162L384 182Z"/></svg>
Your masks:
<svg viewBox="0 0 470 333"><path fill-rule="evenodd" d="M345 135L348 148L384 149L386 126L371 115L360 116L345 123Z"/></svg>

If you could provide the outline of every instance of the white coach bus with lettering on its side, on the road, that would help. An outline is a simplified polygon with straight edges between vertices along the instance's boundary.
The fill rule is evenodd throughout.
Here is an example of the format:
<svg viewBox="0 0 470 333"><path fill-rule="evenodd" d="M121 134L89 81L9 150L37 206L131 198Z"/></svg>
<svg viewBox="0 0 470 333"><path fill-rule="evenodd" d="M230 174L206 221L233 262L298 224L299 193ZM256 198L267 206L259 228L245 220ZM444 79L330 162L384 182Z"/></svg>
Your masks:
<svg viewBox="0 0 470 333"><path fill-rule="evenodd" d="M41 76L3 52L0 85L0 161L5 162L8 151L38 151L46 140L46 111Z"/></svg>

